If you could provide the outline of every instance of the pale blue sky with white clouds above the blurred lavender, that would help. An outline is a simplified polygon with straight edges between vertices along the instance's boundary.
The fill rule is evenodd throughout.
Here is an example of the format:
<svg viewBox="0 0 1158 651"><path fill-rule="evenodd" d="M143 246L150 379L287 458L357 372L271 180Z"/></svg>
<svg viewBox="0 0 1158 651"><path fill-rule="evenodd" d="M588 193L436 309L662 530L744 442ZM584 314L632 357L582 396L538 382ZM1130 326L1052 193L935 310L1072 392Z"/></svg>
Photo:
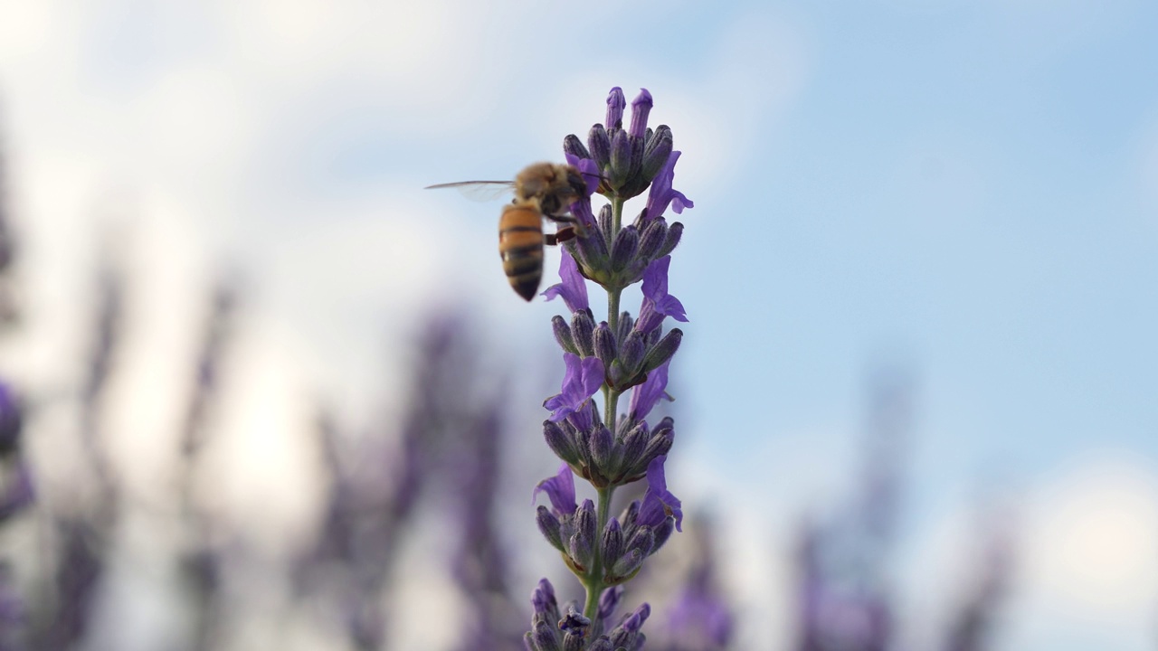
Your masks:
<svg viewBox="0 0 1158 651"><path fill-rule="evenodd" d="M248 295L222 425L239 449L278 448L307 396L390 395L381 370L431 305L466 306L541 373L559 306L506 286L498 206L422 188L558 160L611 86L646 87L696 202L672 271L686 503L756 510L738 535L786 531L848 488L868 378L900 367L910 590L951 575L982 496L1009 495L1031 561L1005 648L1150 649L1155 24L1141 0L0 0L27 309L8 372L68 381L111 240L138 272L117 411L133 454L177 417L157 387L184 381L191 297L219 273ZM263 504L285 467L230 485Z"/></svg>

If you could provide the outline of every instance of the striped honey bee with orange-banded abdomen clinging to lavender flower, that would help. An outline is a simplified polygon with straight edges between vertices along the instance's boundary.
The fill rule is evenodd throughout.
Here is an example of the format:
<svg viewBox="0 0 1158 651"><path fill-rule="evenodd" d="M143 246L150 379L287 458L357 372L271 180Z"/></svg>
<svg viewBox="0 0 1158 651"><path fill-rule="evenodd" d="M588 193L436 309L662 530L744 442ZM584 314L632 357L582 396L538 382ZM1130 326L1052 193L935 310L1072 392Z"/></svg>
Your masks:
<svg viewBox="0 0 1158 651"><path fill-rule="evenodd" d="M557 244L574 237L580 225L567 206L584 196L587 183L582 173L569 164L535 163L514 181L462 181L430 185L427 190L456 188L468 197L490 198L494 190L514 191L514 200L499 217L499 257L511 288L530 301L543 277L543 244ZM557 233L543 233L543 218L560 226Z"/></svg>

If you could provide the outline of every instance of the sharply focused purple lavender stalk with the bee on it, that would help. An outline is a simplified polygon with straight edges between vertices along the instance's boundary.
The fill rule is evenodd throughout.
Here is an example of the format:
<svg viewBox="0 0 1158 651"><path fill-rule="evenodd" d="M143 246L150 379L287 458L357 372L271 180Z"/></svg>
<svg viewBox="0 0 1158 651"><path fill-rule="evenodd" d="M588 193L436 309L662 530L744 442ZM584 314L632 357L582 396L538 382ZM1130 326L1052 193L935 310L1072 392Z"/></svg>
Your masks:
<svg viewBox="0 0 1158 651"><path fill-rule="evenodd" d="M543 293L548 300L562 298L571 319L551 320L566 371L559 394L543 403L551 410L543 436L563 465L535 489L551 504L537 507L536 521L586 595L581 610L578 601L559 608L550 583L540 583L532 599L532 630L525 636L533 651L640 649L640 627L650 606L644 604L618 622L611 617L623 584L681 528L680 500L667 490L664 471L674 422L665 417L650 425L647 417L660 400L669 398L667 368L683 336L675 328L665 334L662 323L668 316L688 320L683 305L668 293L667 277L683 226L668 226L664 213L668 207L681 213L692 203L672 189L680 152L672 149L670 129L647 126L652 107L644 89L631 102L630 120L624 120L625 97L613 88L607 124L591 129L586 146L573 134L563 144L567 162L588 183L587 193L570 206L584 228L563 246L559 284ZM633 224L624 225L628 199L644 192L646 206ZM593 193L608 202L598 218ZM644 300L632 317L621 309L622 293L640 281ZM596 321L591 309L587 283L607 293L603 321ZM628 390L630 407L620 414L620 397ZM601 410L593 397L596 393L602 394ZM578 503L576 476L591 483L595 502ZM647 487L643 499L613 515L616 489L640 480Z"/></svg>

